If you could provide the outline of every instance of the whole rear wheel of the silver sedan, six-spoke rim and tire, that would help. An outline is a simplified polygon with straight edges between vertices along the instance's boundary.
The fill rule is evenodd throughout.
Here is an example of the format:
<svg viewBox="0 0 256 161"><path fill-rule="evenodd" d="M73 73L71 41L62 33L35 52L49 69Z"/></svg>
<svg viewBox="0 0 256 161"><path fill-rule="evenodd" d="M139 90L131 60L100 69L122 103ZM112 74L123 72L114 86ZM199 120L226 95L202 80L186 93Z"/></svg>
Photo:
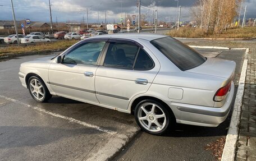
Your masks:
<svg viewBox="0 0 256 161"><path fill-rule="evenodd" d="M172 125L175 125L171 118L173 114L155 100L147 99L138 103L134 115L141 130L149 134L164 134L164 132L170 130Z"/></svg>

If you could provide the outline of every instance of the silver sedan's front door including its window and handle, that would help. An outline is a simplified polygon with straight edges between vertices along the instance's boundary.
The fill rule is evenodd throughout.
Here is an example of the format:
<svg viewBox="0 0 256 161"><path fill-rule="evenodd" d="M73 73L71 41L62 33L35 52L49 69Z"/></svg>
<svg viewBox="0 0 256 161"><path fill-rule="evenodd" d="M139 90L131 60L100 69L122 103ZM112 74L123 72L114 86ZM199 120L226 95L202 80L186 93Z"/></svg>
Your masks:
<svg viewBox="0 0 256 161"><path fill-rule="evenodd" d="M49 67L49 84L60 96L98 102L95 96L97 62L106 42L88 42L65 54L62 63Z"/></svg>

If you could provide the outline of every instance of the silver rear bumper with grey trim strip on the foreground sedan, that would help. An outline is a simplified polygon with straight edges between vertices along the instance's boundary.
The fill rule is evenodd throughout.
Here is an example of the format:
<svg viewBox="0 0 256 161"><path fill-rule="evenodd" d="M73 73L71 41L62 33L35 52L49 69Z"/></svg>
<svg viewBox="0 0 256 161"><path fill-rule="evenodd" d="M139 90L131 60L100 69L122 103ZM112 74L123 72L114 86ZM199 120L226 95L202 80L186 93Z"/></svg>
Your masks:
<svg viewBox="0 0 256 161"><path fill-rule="evenodd" d="M177 123L217 127L221 122L225 121L230 112L234 90L235 86L234 82L232 82L226 102L220 108L172 102L168 104L175 114Z"/></svg>

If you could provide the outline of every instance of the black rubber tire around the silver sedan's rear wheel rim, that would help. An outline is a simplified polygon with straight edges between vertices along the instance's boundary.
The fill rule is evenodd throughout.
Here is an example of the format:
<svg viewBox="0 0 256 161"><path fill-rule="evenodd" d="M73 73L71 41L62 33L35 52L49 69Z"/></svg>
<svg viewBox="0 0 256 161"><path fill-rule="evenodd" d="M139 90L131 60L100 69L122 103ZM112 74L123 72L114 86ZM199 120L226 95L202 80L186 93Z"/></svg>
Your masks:
<svg viewBox="0 0 256 161"><path fill-rule="evenodd" d="M149 104L148 107L147 107L147 104ZM164 113L164 115L165 115L164 118L157 118L156 119L156 115L154 115L154 117L153 117L153 119L157 120L157 122L160 123L160 125L161 125L162 122L164 122L164 119L165 119L165 123L162 123L162 128L159 128L157 126L157 124L152 123L151 127L159 128L159 131L154 131L154 129L153 130L148 130L147 128L145 128L144 127L145 125L143 125L143 122L145 124L147 124L147 122L149 123L148 120L143 120L143 121L141 121L142 123L139 121L139 115L140 115L139 113L141 112L141 109L140 109L141 105L143 105L143 107L145 105L144 108L147 109L147 111L148 111L148 109L150 109L150 104L154 104L158 108L158 111L155 110L156 112L154 112L154 114L157 115L157 113L158 113L158 114L161 115L162 113ZM166 107L165 105L157 102L156 100L146 99L146 100L142 100L141 102L139 102L136 105L134 116L135 116L136 122L138 123L141 130L143 130L145 132L148 132L149 134L153 134L153 135L162 135L162 134L166 133L167 131L170 131L171 128L175 127L175 125L176 125L175 116L172 113L171 109L168 109L168 108L170 108L170 107ZM152 107L151 107L151 109L152 109ZM151 111L148 111L148 112L151 112ZM150 117L148 117L148 116L150 116L150 114L149 115L146 115L146 113L144 113L144 114L145 114L145 116L141 116L141 117L147 117L148 119L150 118ZM153 125L155 125L155 126L153 126ZM157 130L157 129L155 129L155 130Z"/></svg>

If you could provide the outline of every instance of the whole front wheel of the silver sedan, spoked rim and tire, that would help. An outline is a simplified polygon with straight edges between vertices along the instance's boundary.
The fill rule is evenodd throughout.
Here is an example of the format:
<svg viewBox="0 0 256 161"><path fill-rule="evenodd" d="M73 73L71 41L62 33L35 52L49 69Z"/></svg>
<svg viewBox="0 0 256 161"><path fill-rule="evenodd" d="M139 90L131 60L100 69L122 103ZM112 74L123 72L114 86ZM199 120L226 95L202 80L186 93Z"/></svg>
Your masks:
<svg viewBox="0 0 256 161"><path fill-rule="evenodd" d="M47 86L44 84L43 80L38 76L31 76L28 80L28 88L30 95L37 102L45 102L52 98Z"/></svg>

